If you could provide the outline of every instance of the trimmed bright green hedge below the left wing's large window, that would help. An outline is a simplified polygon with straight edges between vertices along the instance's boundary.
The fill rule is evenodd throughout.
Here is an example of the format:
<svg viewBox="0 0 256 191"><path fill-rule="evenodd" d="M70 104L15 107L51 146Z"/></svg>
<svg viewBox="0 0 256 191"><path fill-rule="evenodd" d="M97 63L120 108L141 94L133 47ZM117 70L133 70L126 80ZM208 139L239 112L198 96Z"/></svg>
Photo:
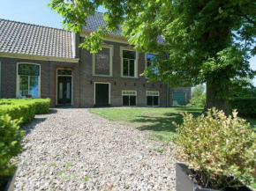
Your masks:
<svg viewBox="0 0 256 191"><path fill-rule="evenodd" d="M9 114L11 119L22 123L34 119L34 114L49 114L50 99L0 99L0 115Z"/></svg>

